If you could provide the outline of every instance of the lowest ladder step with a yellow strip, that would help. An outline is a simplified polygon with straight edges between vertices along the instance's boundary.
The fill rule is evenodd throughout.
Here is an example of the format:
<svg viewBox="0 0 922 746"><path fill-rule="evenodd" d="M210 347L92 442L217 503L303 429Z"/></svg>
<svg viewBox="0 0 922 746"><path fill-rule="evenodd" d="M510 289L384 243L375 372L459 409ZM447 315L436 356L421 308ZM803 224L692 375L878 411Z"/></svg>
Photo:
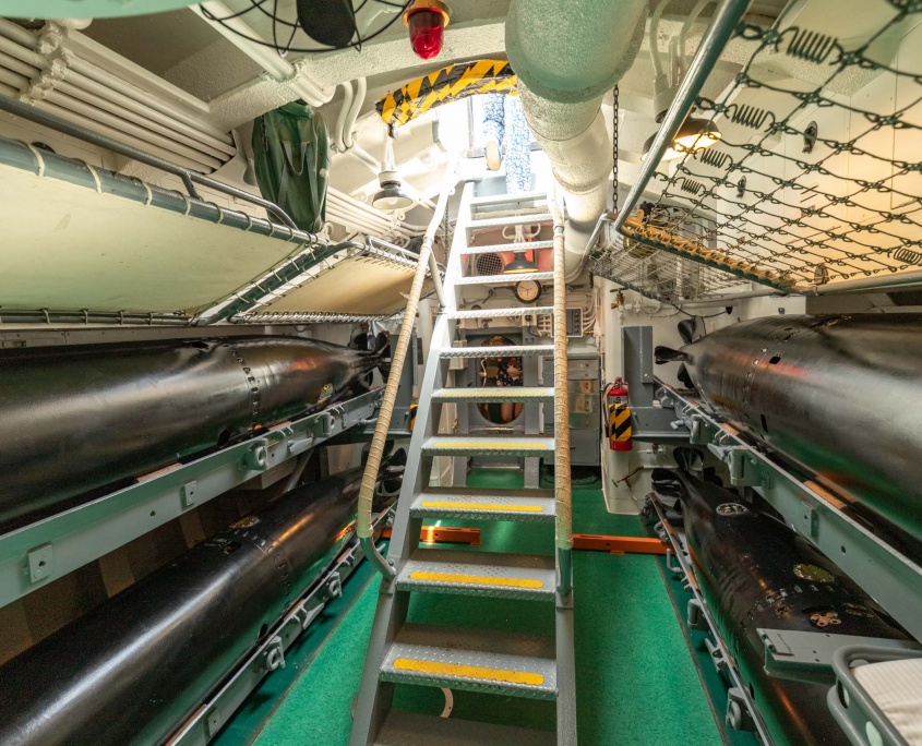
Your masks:
<svg viewBox="0 0 922 746"><path fill-rule="evenodd" d="M384 657L381 679L554 699L554 638L405 624Z"/></svg>

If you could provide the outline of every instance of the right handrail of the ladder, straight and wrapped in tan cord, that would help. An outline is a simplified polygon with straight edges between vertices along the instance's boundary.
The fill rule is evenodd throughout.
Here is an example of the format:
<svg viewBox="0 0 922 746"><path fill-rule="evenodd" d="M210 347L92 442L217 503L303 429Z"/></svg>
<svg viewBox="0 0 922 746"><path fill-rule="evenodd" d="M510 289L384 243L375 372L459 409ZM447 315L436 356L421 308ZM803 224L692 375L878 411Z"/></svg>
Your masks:
<svg viewBox="0 0 922 746"><path fill-rule="evenodd" d="M558 590L573 589L573 493L570 480L570 395L566 358L566 269L563 210L556 183L551 181L548 206L554 221L554 504Z"/></svg>

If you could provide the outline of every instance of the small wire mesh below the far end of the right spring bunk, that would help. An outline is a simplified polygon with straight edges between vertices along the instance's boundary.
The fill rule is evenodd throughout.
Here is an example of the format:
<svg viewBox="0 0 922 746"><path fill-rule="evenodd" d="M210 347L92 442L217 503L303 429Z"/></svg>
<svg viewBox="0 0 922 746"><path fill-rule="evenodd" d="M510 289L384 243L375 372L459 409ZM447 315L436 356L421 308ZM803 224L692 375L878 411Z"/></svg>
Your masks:
<svg viewBox="0 0 922 746"><path fill-rule="evenodd" d="M633 239L616 239L589 260L594 275L664 303L697 300L740 285L734 275Z"/></svg>

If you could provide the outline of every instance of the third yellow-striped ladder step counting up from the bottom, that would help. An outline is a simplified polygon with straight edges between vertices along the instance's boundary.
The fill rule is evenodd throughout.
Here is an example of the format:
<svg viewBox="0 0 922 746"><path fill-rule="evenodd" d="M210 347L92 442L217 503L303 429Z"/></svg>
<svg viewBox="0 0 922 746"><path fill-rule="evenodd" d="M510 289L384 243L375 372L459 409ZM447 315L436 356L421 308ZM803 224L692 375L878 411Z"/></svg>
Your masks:
<svg viewBox="0 0 922 746"><path fill-rule="evenodd" d="M416 496L410 514L423 518L552 521L552 490L478 490L429 488Z"/></svg>

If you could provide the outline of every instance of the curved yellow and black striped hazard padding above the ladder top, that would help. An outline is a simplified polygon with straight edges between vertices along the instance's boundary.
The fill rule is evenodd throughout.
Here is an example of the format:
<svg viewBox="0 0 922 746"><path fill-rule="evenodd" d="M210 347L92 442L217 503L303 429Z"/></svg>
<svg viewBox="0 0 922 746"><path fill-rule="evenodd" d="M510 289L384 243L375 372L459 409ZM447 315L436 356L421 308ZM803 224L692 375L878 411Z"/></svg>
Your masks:
<svg viewBox="0 0 922 746"><path fill-rule="evenodd" d="M392 91L378 101L378 113L387 124L406 124L434 106L481 93L517 95L518 79L505 60L477 60L450 64Z"/></svg>

